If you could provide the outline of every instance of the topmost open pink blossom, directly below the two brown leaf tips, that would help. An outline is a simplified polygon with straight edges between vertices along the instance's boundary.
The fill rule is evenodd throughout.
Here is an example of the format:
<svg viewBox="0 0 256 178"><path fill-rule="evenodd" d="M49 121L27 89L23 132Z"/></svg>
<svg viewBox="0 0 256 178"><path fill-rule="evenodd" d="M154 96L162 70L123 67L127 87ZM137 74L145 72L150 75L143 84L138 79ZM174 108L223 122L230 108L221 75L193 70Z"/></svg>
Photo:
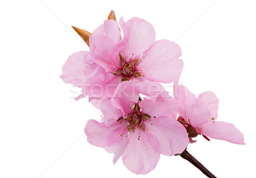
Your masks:
<svg viewBox="0 0 256 178"><path fill-rule="evenodd" d="M171 83L180 78L183 61L175 42L155 41L154 27L138 17L126 23L120 18L119 24L122 40L115 20L106 20L94 30L90 52L74 53L64 64L64 82L82 86L83 96L91 100L111 98L125 80Z"/></svg>

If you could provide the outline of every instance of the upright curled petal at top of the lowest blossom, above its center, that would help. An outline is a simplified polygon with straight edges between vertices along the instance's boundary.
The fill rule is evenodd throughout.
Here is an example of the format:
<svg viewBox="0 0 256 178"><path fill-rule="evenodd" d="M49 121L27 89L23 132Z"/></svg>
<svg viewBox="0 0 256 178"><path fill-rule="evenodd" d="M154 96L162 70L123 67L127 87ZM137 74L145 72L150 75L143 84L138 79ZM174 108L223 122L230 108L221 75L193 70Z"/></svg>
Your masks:
<svg viewBox="0 0 256 178"><path fill-rule="evenodd" d="M139 95L135 92L135 83L132 80L120 83L111 99L111 104L120 109L123 113L123 118L132 111L134 104L139 101Z"/></svg>

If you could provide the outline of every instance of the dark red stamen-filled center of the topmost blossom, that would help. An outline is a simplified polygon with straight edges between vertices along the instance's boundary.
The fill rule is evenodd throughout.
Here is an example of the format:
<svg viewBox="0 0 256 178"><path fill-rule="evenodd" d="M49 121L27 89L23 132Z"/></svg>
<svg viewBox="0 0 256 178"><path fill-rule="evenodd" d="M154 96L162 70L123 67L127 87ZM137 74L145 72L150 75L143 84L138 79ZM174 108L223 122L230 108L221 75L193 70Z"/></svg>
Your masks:
<svg viewBox="0 0 256 178"><path fill-rule="evenodd" d="M116 70L116 72L113 73L113 75L122 76L122 81L130 80L132 77L144 77L140 73L142 70L136 69L141 59L132 59L133 55L134 54L132 54L132 56L129 58L126 57L126 55L125 57L122 57L122 55L119 54L118 56L120 57L120 63L118 63L118 69Z"/></svg>

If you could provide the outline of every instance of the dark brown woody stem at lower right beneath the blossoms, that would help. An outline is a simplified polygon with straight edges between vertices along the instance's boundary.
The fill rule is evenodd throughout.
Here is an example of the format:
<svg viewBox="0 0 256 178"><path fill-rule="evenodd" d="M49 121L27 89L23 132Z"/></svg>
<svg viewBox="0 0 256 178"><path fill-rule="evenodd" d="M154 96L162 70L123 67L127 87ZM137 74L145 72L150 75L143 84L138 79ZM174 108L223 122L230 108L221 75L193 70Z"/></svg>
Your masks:
<svg viewBox="0 0 256 178"><path fill-rule="evenodd" d="M201 172L203 172L208 178L217 178L212 174L203 164L201 164L194 156L192 156L186 149L180 153L181 158L186 159L195 167L197 167Z"/></svg>

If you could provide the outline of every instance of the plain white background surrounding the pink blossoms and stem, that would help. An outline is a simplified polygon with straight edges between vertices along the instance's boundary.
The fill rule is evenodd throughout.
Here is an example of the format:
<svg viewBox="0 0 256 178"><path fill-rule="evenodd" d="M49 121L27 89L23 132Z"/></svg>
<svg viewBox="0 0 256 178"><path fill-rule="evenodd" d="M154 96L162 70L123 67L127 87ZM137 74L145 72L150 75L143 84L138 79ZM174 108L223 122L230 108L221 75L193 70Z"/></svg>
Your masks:
<svg viewBox="0 0 256 178"><path fill-rule="evenodd" d="M87 143L84 126L101 112L87 99L70 98L72 86L59 75L69 55L87 50L71 25L93 32L111 10L117 19L149 21L157 40L177 40L184 61L180 83L195 95L215 92L218 120L244 133L246 145L198 137L189 150L218 178L255 177L253 0L41 2L0 3L0 177L205 177L182 158L163 155L153 171L135 175L121 159L113 165L112 154Z"/></svg>

